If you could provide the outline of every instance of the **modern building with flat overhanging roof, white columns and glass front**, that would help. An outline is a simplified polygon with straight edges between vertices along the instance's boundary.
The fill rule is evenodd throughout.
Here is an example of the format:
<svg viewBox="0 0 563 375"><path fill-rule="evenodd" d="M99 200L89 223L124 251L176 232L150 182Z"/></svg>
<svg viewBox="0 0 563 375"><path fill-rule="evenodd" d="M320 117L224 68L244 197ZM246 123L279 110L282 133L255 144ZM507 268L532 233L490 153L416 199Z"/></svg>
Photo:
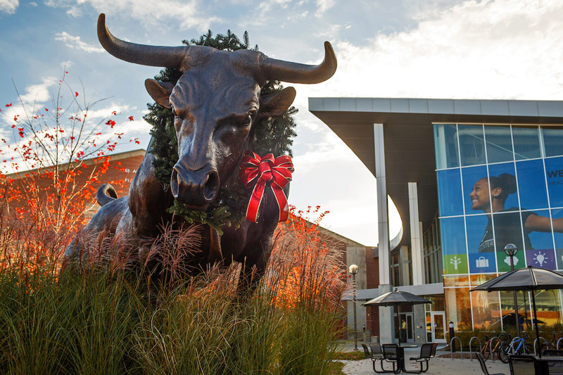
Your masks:
<svg viewBox="0 0 563 375"><path fill-rule="evenodd" d="M514 326L512 292L469 292L510 270L507 243L519 249L514 268L563 269L562 101L309 98L309 110L377 179L379 246L366 256L378 267L365 269L358 299L398 288L432 301L398 316L368 309L381 341L393 340L400 319L417 342L445 342L450 321ZM388 196L402 221L395 239ZM530 303L517 293L526 330ZM539 324L562 322L560 291L540 291L536 303Z"/></svg>

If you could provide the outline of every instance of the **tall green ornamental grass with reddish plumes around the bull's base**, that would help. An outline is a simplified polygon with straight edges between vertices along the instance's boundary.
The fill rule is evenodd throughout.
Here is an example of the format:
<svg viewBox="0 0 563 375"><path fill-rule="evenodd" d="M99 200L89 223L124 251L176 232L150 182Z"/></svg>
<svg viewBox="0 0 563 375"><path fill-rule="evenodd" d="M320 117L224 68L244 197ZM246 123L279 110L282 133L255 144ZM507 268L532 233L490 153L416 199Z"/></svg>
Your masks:
<svg viewBox="0 0 563 375"><path fill-rule="evenodd" d="M3 219L4 220L4 219ZM22 220L0 234L2 374L329 374L346 287L335 246L291 216L265 277L241 265L183 268L198 231L165 229L134 265L124 239L84 238L88 256L59 273L63 243ZM64 240L64 241L63 241ZM253 284L237 292L241 282Z"/></svg>

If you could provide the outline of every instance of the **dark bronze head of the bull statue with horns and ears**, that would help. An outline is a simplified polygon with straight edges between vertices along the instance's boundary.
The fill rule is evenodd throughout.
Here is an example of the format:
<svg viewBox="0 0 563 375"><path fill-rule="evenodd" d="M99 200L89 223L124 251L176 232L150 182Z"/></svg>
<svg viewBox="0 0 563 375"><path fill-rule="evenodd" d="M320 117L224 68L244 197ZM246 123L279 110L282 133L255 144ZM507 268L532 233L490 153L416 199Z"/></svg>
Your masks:
<svg viewBox="0 0 563 375"><path fill-rule="evenodd" d="M324 61L303 65L268 58L258 51L220 51L207 46L146 46L115 38L98 19L98 38L106 51L130 63L176 68L176 84L146 80L153 99L175 115L179 160L170 182L172 194L190 208L205 209L236 170L248 148L253 123L277 117L291 106L293 87L260 96L267 80L312 84L336 71L336 56L324 43Z"/></svg>

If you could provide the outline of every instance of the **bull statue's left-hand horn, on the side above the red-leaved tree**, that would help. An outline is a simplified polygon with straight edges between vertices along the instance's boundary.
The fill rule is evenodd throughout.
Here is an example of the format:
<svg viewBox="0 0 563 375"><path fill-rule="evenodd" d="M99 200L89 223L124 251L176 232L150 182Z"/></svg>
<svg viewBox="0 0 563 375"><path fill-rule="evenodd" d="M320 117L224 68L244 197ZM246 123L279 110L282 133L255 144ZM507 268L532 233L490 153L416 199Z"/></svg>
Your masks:
<svg viewBox="0 0 563 375"><path fill-rule="evenodd" d="M120 60L165 68L179 68L189 49L189 46L161 47L125 42L109 32L103 13L98 17L98 39L106 51Z"/></svg>

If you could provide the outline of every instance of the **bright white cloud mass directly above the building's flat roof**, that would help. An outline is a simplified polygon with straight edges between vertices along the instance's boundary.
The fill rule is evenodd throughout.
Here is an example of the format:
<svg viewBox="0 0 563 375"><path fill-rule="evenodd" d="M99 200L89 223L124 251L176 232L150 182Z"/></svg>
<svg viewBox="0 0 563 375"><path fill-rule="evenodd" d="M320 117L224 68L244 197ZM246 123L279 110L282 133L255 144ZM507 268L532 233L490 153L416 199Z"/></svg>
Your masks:
<svg viewBox="0 0 563 375"><path fill-rule="evenodd" d="M336 75L303 89L308 96L560 99L562 13L557 0L465 1L426 15L415 29L374 35L368 46L336 43Z"/></svg>

